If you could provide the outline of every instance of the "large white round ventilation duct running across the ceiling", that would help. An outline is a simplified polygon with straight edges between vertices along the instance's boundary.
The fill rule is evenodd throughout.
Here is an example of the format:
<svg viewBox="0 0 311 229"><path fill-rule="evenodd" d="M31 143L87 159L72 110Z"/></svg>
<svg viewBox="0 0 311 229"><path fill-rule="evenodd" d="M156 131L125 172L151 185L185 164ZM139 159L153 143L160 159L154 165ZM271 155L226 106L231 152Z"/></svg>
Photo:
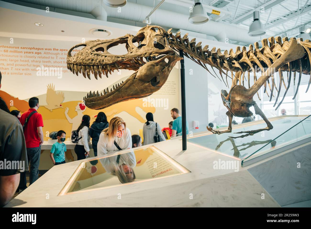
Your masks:
<svg viewBox="0 0 311 229"><path fill-rule="evenodd" d="M118 11L118 8L108 7L102 1L98 2L97 0L78 1L77 4L71 4L70 2L63 0L20 0L20 2L28 2L32 4L39 4L41 6L49 6L84 13L91 13L92 11L93 13L104 13L105 11L107 13L107 17L137 22L142 22L145 20L146 15L152 11L152 7L139 5L132 2L127 2L127 4L121 8L121 12ZM184 1L180 2L183 4L189 4ZM100 10L94 10L95 7L99 7ZM104 16L95 14L95 17L103 18ZM219 37L221 35L221 40L226 37L225 40L239 41L245 44L252 44L258 40L258 37L254 38L248 36L248 30L238 25L225 24L212 20L206 24L195 25L188 21L188 15L159 8L150 16L150 19L153 25L163 26L166 28L189 30L213 37Z"/></svg>

